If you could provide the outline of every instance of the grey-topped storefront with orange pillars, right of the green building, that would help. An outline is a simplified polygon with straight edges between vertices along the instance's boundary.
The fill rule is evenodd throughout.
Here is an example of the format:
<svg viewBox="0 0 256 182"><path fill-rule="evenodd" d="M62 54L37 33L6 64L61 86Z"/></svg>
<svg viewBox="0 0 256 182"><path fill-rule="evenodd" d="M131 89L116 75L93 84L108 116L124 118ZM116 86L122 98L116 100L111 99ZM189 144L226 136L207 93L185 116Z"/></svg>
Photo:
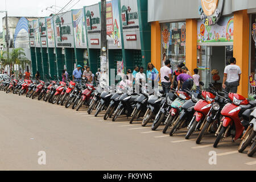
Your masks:
<svg viewBox="0 0 256 182"><path fill-rule="evenodd" d="M255 72L255 42L250 40L249 51L249 35L254 30L255 16L250 14L255 10L256 2L199 0L195 3L181 0L171 6L172 3L148 0L152 61L162 65L165 52L174 68L184 60L189 71L200 70L205 86L212 82L221 89L224 68L234 56L242 71L238 93L247 97L249 75ZM249 24L252 26L250 30ZM181 41L183 32L184 42Z"/></svg>

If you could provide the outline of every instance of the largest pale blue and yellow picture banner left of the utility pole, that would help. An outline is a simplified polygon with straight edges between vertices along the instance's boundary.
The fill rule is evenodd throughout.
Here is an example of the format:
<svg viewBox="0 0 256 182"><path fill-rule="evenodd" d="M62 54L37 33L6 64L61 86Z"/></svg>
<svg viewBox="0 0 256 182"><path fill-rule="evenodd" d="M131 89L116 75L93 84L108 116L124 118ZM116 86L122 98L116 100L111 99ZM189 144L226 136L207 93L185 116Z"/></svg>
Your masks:
<svg viewBox="0 0 256 182"><path fill-rule="evenodd" d="M84 9L72 10L76 48L87 48Z"/></svg>

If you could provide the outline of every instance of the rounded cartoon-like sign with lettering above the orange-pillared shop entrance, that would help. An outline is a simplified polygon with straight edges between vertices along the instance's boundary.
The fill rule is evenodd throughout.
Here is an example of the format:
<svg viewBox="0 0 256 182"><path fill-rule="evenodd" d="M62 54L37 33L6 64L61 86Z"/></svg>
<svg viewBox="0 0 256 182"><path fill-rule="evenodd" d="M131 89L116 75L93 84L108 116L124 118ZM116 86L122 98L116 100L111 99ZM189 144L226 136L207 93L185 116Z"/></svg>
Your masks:
<svg viewBox="0 0 256 182"><path fill-rule="evenodd" d="M205 26L213 26L221 17L224 0L201 0L199 14Z"/></svg>

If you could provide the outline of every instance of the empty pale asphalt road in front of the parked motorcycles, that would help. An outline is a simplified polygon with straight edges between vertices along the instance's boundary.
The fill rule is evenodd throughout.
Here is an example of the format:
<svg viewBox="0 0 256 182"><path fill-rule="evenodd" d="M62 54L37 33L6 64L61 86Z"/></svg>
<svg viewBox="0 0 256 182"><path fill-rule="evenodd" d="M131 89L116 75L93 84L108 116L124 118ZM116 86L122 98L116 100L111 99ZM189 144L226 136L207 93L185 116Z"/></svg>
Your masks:
<svg viewBox="0 0 256 182"><path fill-rule="evenodd" d="M256 157L238 154L240 140L226 138L213 148L207 134L185 140L151 131L125 117L104 121L64 106L0 91L0 170L255 170ZM248 148L246 149L247 152ZM46 164L39 165L39 151ZM209 164L209 152L217 154Z"/></svg>

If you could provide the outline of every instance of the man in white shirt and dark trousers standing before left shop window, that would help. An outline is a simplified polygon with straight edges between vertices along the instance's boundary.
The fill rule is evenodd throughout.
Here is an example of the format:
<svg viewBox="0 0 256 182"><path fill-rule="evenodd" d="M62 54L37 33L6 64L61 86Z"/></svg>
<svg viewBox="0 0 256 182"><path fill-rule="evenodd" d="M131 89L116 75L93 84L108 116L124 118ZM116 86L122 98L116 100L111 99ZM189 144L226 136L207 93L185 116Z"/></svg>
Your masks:
<svg viewBox="0 0 256 182"><path fill-rule="evenodd" d="M166 60L164 62L164 66L160 69L160 75L161 75L161 83L163 87L164 93L168 94L170 91L170 86L172 88L172 71L171 71L171 61Z"/></svg>

